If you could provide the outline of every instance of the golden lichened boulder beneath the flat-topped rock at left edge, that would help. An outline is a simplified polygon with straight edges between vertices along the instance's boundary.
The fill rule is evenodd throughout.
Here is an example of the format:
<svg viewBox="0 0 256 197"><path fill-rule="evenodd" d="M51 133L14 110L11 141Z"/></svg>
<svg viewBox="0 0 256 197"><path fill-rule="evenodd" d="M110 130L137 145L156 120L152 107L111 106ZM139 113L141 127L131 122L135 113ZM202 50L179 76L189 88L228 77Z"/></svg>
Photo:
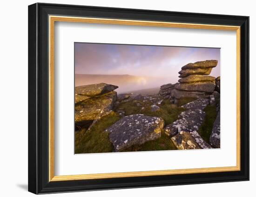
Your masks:
<svg viewBox="0 0 256 197"><path fill-rule="evenodd" d="M89 98L75 105L75 122L94 120L99 114L110 111L116 100L116 92Z"/></svg>

